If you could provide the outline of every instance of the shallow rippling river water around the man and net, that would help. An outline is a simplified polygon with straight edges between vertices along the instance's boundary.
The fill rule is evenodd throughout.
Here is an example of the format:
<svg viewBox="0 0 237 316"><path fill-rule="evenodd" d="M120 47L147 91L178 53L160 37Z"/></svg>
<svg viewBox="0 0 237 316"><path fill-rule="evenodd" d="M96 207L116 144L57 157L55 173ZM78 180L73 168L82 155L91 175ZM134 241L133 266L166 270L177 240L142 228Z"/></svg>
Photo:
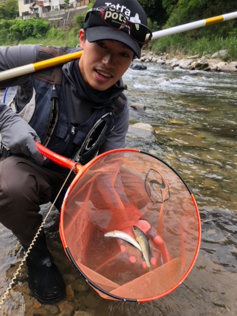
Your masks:
<svg viewBox="0 0 237 316"><path fill-rule="evenodd" d="M137 304L104 300L86 288L82 294L75 291L70 304L75 306L80 302L91 313L88 315L98 316L235 316L237 74L146 66L147 70L129 69L123 80L128 87L129 103L146 106L144 112L131 110L130 123L151 124L156 140L127 137L126 147L155 154L178 171L188 184L196 198L202 224L197 261L174 292L156 301ZM42 206L42 212L47 209L48 205ZM46 225L49 237L58 238L57 220L54 211ZM0 226L1 294L18 267L20 250L16 238ZM65 259L60 245L58 251L60 255L57 258L55 254L55 260L58 259L65 278L72 274L80 280L77 272L71 272L72 265ZM33 303L27 292L24 270L16 284L18 292L24 293L25 315L33 315L27 314ZM59 309L55 311L54 315L60 315ZM45 315L51 313L52 310Z"/></svg>

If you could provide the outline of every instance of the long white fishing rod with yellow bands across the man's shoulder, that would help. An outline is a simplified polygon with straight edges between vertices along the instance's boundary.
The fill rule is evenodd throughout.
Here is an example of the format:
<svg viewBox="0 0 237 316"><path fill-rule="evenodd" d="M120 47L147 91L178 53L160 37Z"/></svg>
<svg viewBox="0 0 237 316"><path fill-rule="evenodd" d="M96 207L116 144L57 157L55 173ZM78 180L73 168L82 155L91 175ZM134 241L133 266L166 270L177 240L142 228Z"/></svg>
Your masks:
<svg viewBox="0 0 237 316"><path fill-rule="evenodd" d="M170 35L186 32L186 31L194 30L197 28L201 28L203 26L212 25L212 24L232 20L235 18L237 18L237 11L223 14L223 15L214 16L212 18L208 18L204 20L199 20L196 22L191 22L191 23L175 26L173 28L154 32L152 34L152 40L157 40L165 36L170 36ZM24 65L24 66L8 69L8 70L0 72L0 81L15 78L22 75L31 74L36 71L43 70L45 68L64 64L74 59L80 58L81 54L82 54L82 51L78 51L78 52L66 54L59 57L49 58L49 59L46 59L34 64L29 64L29 65Z"/></svg>

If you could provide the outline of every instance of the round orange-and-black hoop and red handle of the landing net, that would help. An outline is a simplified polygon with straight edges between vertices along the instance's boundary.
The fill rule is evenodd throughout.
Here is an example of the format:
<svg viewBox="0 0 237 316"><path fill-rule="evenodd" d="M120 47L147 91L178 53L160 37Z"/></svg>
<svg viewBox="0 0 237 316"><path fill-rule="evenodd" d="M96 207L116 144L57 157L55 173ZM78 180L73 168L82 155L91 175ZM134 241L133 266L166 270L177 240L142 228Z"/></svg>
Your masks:
<svg viewBox="0 0 237 316"><path fill-rule="evenodd" d="M201 224L200 224L200 216L199 216L199 212L198 212L198 208L197 208L197 203L196 203L196 200L195 200L195 198L194 198L194 196L193 196L193 194L191 193L191 191L190 191L190 189L189 189L189 187L187 186L187 184L186 184L186 182L182 179L182 177L178 174L178 172L175 170L175 169L173 169L168 163L166 163L166 162L164 162L162 159L160 159L160 158L158 158L158 157L156 157L156 156L154 156L154 155L152 155L152 154L149 154L149 153L146 153L146 152L143 152L143 151L140 151L140 150L137 150L137 149L117 149L117 150L112 150L112 151L109 151L109 152L106 152L106 153L104 153L104 154L101 154L101 155L99 155L99 156L97 156L96 158L94 158L94 159L92 159L89 163L87 163L86 165L84 165L84 166L81 166L79 163L77 163L77 162L75 162L75 161L73 161L73 160L71 160L71 159L69 159L69 158L65 158L65 157L62 157L62 156L60 156L60 155L58 155L58 154L56 154L56 153L54 153L54 152L52 152L52 151L50 151L50 150L48 150L47 148L45 148L44 146L42 146L41 144L39 144L39 143L36 143L36 145L37 145L37 147L38 147L38 149L39 149L39 151L41 152L41 154L42 155L44 155L46 158L48 158L48 159L50 159L51 161L53 161L53 162L55 162L55 163L57 163L58 165L61 165L61 166L63 166L63 167L65 167L65 168L68 168L68 169L70 169L71 171L74 171L75 173L77 173L77 176L75 177L75 179L74 179L74 181L71 183L71 185L70 185L70 187L69 187L69 189L68 189L68 191L67 191L67 193L66 193L66 195L65 195L65 198L64 198L64 202L63 202L63 207L62 207L62 210L64 210L65 208L64 208L64 205L66 204L66 201L67 201L67 199L70 197L70 193L72 192L72 190L73 190L73 188L74 188L74 186L77 184L77 183L80 183L79 182L79 180L81 179L81 177L83 177L83 175L85 175L86 174L86 171L90 171L91 172L91 170L90 170L90 168L92 168L93 169L93 167L94 167L94 165L100 160L100 159L103 159L103 158L105 158L105 157L107 157L107 156L109 156L110 154L115 154L115 153L119 153L119 154L126 154L126 153L137 153L137 154L145 154L145 155L147 155L147 157L150 157L150 158L155 158L155 161L159 161L159 162L161 162L162 163L162 165L164 165L166 168L168 168L169 170L171 170L172 171L172 175L173 175L173 173L174 173L174 175L175 175L175 177L177 177L177 179L179 179L181 182L179 183L179 187L180 187L180 184L181 184L181 186L184 186L184 188L185 188L185 192L186 192L186 190L187 190L187 192L186 192L186 194L188 194L188 197L189 197L189 200L190 200L190 198L191 198L191 201L192 201L192 205L193 205L193 207L194 207L194 215L196 216L195 217L195 220L197 219L197 223L195 224L195 227L196 227L196 234L197 234L197 236L196 236L196 239L195 239L195 251L194 251L194 255L193 255L193 257L192 257L192 260L191 260L191 262L190 262L190 264L189 264L189 266L188 266L188 268L185 270L185 273L182 275L182 277L180 277L179 278L179 280L176 282L176 283L172 283L172 285L168 288L168 289L166 289L166 290L164 290L162 293L160 293L160 294L158 294L158 295L154 295L154 294L152 294L151 296L149 296L148 298L145 298L145 299L139 299L139 298L136 298L136 299L131 299L131 298L129 298L128 296L127 297L121 297L121 296L118 296L118 295L116 295L115 293L113 293L113 294L111 294L111 293L109 293L108 291L106 291L106 290L104 290L104 289L102 289L100 286L98 286L97 284L95 284L95 282L93 282L93 281L91 281L91 279L86 275L86 273L84 273L80 268L79 268L79 266L77 265L77 263L76 263L76 261L75 261L75 258L73 258L73 256L72 256L72 254L71 254L71 251L70 251L70 249L69 249L69 247L68 247L68 244L67 244L67 241L66 241L66 236L65 236L65 234L64 234L64 230L63 230L63 221L64 221L64 219L63 219L63 214L64 214L64 211L62 211L61 212L61 215L60 215L60 219L61 219L61 221L60 221L60 227L59 227L59 232L60 232L60 237L61 237L61 240L62 240L62 243L63 243L63 246L64 246L64 248L65 248L65 252L66 252L66 254L67 254L67 256L68 256L68 258L72 261L72 263L74 264L74 266L76 267L76 269L79 271L79 273L80 273L80 275L81 276L83 276L84 278L85 278L85 280L88 282L88 284L94 289L94 290L96 290L99 294L100 294L100 296L102 296L103 298L109 298L109 299L113 299L113 300L122 300L122 301L129 301L129 302L139 302L139 303L141 303L141 302L148 302L148 301L152 301L152 300L155 300L155 299L159 299L159 298L161 298L161 297L163 297L163 296L165 296L165 295L167 295L167 294L169 294L170 292L172 292L172 291L174 291L186 278L187 278L187 276L189 275L189 273L191 272L191 270L192 270L192 268L193 268L193 266L194 266L194 264L195 264L195 262L196 262L196 259L197 259L197 255L198 255L198 251L199 251L199 247L200 247L200 241L201 241ZM139 158L140 158L140 156L139 156ZM136 159L137 159L137 157L136 157ZM109 160L109 161L111 161L111 159ZM129 163L130 164L130 163ZM139 168L140 168L140 166L139 166ZM162 169L162 168L161 168ZM158 172L159 173L159 172ZM173 176L172 176L172 178L173 178ZM165 181L165 180L164 180ZM172 183L172 181L171 181L171 183ZM169 189L168 189L169 190ZM148 193L148 192L147 192ZM186 195L185 194L185 195ZM168 195L169 195L169 193L168 193ZM183 197L183 199L185 200L185 195L184 195L184 197ZM165 194L165 199L164 200L168 200L169 198L167 198L167 192L166 192L166 194ZM175 192L175 194L174 194L174 196L176 196L176 192ZM179 197L180 198L180 197ZM187 201L186 201L187 202ZM189 201L190 202L190 201ZM176 203L176 201L175 201L175 203ZM181 203L182 204L182 203ZM189 203L188 203L189 204ZM185 205L186 206L186 205ZM188 206L188 205L187 205ZM162 211L163 212L163 211ZM136 213L134 213L134 214L136 214ZM191 215L191 214L190 214ZM191 216L191 218L193 217L193 215ZM163 220L161 220L161 222L162 222L162 224L163 224ZM187 222L187 223L189 223L189 222ZM162 225L161 224L161 225ZM184 227L183 225L185 224L185 223L180 223L181 225L181 229L184 229L184 231L185 231L185 229L187 229L187 228L189 228L189 227ZM190 224L190 223L189 223ZM191 230L192 230L192 223L191 223ZM189 233L188 231L187 232L185 232L185 234L187 234L187 233ZM192 233L192 235L193 235L193 233ZM183 239L182 241L181 241L181 248L185 248L185 243L184 243L184 240L185 240L185 238L184 238L184 236L181 234L181 239ZM189 242L188 242L188 245L189 245ZM187 246L187 245L186 245ZM185 249L182 249L182 251L183 250L185 250ZM187 250L187 249L186 249ZM188 249L188 251L189 251L190 249ZM192 250L192 249L191 249ZM191 251L192 252L192 251ZM166 275L165 276L167 276L167 272L168 272L168 277L170 277L169 276L169 274L172 274L172 270L171 270L171 268L173 269L174 267L175 267L175 269L178 269L178 265L179 266L181 266L181 270L179 270L179 272L181 273L181 271L183 271L183 269L185 269L186 267L186 263L185 263L185 261L186 261L186 252L184 253L184 262L182 262L183 260L182 260L182 257L183 257L183 255L181 255L181 258L175 258L175 259L172 259L171 261L169 261L169 262L167 262L166 261L166 264L165 265L162 265L161 267L158 267L158 269L159 268L163 268L163 267L165 267L165 269L166 269ZM171 265L171 267L170 266L168 266L168 269L167 269L167 265L169 264L169 263L171 263L171 262L174 262L175 261L175 264L174 265ZM177 265L176 265L176 263L177 263ZM162 269L161 269L162 270ZM155 270L156 272L157 272L157 269ZM150 273L150 272L149 272ZM179 274L180 275L180 274ZM154 276L154 275L153 275ZM162 276L162 273L161 273L161 276ZM174 274L174 276L175 276L175 274ZM102 276L103 277L103 276ZM139 281L140 281L140 277L138 277L137 278ZM136 278L135 278L135 280L137 280ZM144 279L143 279L144 280ZM151 280L151 278L150 278L150 280ZM167 280L165 280L165 283L166 283L166 281ZM170 279L168 279L168 281L170 281ZM113 283L113 282L112 282ZM163 282L164 283L164 282ZM117 284L116 284L117 285ZM140 285L140 284L139 284ZM166 284L167 285L167 284ZM162 285L163 286L163 285ZM166 286L167 287L167 286ZM165 287L164 287L165 288ZM122 289L123 289L123 287L122 287ZM124 292L123 292L124 293Z"/></svg>

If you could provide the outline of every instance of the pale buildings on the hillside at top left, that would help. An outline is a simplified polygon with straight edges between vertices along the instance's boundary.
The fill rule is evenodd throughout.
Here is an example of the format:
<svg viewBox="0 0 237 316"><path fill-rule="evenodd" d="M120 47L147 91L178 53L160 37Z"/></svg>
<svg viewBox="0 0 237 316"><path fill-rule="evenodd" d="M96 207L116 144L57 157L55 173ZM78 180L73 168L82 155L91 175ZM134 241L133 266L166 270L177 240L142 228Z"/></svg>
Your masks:
<svg viewBox="0 0 237 316"><path fill-rule="evenodd" d="M65 6L76 8L88 3L89 0L69 0L68 5L64 0L18 0L19 16L24 20L34 16L40 18L43 13L62 10Z"/></svg>

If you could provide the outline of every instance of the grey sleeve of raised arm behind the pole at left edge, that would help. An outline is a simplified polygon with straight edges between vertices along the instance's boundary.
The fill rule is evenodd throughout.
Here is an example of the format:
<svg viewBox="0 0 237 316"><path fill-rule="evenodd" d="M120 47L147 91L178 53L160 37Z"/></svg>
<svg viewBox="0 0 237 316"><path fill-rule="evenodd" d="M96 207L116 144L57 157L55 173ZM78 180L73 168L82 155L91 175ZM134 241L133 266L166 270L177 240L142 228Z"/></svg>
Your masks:
<svg viewBox="0 0 237 316"><path fill-rule="evenodd" d="M35 63L37 60L38 45L7 46L0 49L0 72L23 65ZM0 87L6 88L16 85L29 85L32 76L24 75L0 81Z"/></svg>

